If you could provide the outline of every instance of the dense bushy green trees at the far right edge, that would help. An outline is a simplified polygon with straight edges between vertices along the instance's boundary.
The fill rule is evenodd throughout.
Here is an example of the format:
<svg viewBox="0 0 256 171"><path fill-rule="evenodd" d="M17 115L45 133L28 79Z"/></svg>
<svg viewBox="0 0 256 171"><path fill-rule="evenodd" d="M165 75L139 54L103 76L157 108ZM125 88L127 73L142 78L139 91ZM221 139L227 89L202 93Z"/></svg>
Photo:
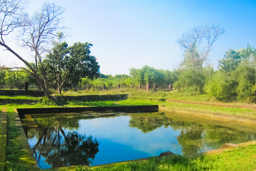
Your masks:
<svg viewBox="0 0 256 171"><path fill-rule="evenodd" d="M220 100L231 96L237 100L255 98L256 49L250 45L226 52L219 61L218 71L205 84L205 92ZM250 99L254 100L254 99Z"/></svg>

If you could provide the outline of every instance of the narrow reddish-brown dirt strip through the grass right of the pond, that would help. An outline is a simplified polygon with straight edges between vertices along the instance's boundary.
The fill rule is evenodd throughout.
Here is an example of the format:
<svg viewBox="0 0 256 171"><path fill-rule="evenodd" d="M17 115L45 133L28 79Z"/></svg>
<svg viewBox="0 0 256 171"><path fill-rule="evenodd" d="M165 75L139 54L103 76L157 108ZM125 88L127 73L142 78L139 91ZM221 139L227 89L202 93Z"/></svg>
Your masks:
<svg viewBox="0 0 256 171"><path fill-rule="evenodd" d="M166 101L172 102L172 103L199 104L199 105L209 105L209 106L216 106L216 107L256 110L256 104L242 104L242 103L241 104L226 104L226 103L210 103L210 102L174 100L174 99L167 99Z"/></svg>

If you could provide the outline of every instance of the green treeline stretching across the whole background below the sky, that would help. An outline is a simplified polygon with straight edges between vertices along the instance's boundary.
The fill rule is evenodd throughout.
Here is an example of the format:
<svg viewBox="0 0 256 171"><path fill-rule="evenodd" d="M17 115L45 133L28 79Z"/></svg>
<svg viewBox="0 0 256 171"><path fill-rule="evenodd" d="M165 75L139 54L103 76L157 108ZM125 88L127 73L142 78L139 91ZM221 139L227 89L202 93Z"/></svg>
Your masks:
<svg viewBox="0 0 256 171"><path fill-rule="evenodd" d="M193 54L193 55L191 55ZM208 93L217 100L254 101L256 97L256 49L249 44L246 48L226 52L224 58L219 60L218 70L214 71L210 64L201 64L192 58L197 54L196 48L185 50L184 60L180 67L174 71L158 70L153 67L131 68L129 75L104 75L98 78L80 78L76 87L107 88L130 87L146 84L172 84L174 89L193 95ZM1 67L2 69L5 66ZM22 89L25 82L36 83L33 76L22 72L0 70L0 88ZM55 88L56 82L52 80L50 87ZM67 84L71 87L71 83Z"/></svg>

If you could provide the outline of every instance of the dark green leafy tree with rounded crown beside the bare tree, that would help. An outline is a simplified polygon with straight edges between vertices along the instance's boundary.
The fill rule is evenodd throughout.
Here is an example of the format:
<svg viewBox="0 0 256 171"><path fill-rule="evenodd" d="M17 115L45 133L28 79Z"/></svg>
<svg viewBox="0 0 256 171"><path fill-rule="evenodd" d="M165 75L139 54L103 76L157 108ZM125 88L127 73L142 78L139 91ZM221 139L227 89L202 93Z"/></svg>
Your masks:
<svg viewBox="0 0 256 171"><path fill-rule="evenodd" d="M57 83L58 92L61 94L67 83L77 84L81 78L97 78L99 64L91 56L90 43L74 43L68 47L66 42L57 43L48 54L43 64L51 82Z"/></svg>

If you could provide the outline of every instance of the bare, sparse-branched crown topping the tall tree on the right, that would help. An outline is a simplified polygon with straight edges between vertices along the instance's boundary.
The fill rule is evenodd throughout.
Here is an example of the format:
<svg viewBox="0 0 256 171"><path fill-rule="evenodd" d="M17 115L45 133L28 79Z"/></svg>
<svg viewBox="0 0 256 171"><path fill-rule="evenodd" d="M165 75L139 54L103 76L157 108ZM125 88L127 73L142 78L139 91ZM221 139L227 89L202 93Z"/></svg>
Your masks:
<svg viewBox="0 0 256 171"><path fill-rule="evenodd" d="M184 57L189 60L194 70L199 70L206 62L213 43L225 32L220 25L195 27L182 35L177 40L182 50L185 50ZM188 59L189 58L189 59Z"/></svg>

